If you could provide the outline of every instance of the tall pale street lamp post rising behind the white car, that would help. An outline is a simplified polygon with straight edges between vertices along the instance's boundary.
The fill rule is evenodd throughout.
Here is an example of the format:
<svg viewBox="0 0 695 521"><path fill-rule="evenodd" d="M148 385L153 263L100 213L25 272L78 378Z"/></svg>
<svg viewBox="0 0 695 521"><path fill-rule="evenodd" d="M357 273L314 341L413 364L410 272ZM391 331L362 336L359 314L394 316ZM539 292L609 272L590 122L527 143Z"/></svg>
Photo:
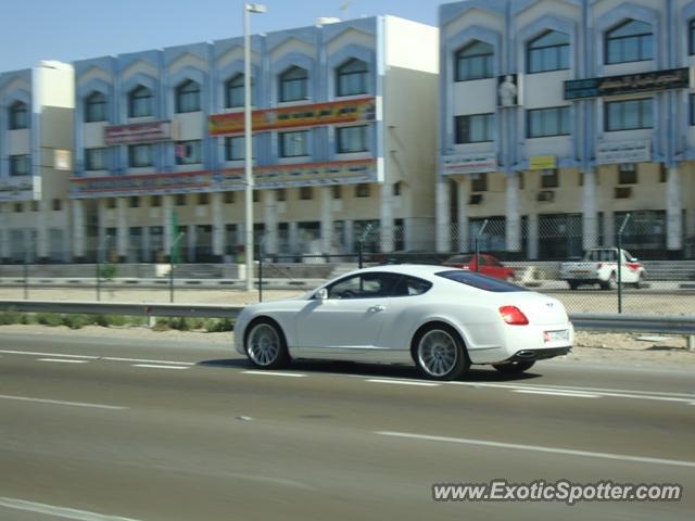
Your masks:
<svg viewBox="0 0 695 521"><path fill-rule="evenodd" d="M265 13L261 3L243 4L244 254L247 291L253 290L253 149L251 132L251 42L249 13Z"/></svg>

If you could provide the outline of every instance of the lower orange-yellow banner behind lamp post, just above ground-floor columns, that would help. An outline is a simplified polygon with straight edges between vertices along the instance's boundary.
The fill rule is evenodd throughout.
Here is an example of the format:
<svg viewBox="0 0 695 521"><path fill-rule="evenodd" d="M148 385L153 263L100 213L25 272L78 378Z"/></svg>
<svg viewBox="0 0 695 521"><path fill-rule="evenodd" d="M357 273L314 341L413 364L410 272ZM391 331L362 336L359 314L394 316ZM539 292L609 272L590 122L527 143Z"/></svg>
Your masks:
<svg viewBox="0 0 695 521"><path fill-rule="evenodd" d="M253 170L257 188L312 187L375 182L378 180L375 160L304 163L300 165L261 166ZM218 190L243 188L243 168L224 170L215 185Z"/></svg>

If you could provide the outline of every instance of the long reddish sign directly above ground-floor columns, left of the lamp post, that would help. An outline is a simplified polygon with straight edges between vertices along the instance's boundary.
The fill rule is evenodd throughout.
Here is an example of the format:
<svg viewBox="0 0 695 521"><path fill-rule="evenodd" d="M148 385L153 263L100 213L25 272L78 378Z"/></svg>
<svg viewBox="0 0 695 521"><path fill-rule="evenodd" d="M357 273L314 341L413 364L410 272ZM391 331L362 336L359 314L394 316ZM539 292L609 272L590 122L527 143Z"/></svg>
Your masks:
<svg viewBox="0 0 695 521"><path fill-rule="evenodd" d="M208 171L73 177L71 179L71 198L89 199L109 195L206 192L211 190L211 178L212 176Z"/></svg>

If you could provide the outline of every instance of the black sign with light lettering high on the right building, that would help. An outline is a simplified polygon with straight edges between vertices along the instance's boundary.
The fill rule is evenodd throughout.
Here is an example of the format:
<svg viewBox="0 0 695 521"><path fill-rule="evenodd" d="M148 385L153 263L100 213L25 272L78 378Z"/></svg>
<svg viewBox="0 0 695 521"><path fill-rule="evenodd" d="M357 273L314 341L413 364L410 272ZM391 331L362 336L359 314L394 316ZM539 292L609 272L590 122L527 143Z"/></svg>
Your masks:
<svg viewBox="0 0 695 521"><path fill-rule="evenodd" d="M581 100L603 96L655 92L690 87L688 68L671 68L652 73L626 74L605 78L571 79L565 81L565 99Z"/></svg>

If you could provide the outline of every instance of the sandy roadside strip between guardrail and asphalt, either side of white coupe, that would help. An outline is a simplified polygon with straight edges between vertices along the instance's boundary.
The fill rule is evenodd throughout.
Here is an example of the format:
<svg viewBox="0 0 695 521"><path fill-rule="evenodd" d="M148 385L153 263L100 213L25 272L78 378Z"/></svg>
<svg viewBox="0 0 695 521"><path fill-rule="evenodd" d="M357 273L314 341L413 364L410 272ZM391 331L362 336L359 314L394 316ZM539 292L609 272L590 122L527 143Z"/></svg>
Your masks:
<svg viewBox="0 0 695 521"><path fill-rule="evenodd" d="M65 327L49 328L47 326L0 326L2 333L41 334L47 336L103 338L108 330L109 338L123 340L167 340L175 342L208 343L214 347L229 346L233 342L233 333L207 333L200 331L152 331L144 327L101 328L88 326L79 330ZM647 334L595 333L578 331L572 352L553 363L558 364L606 364L634 367L657 367L661 369L695 368L695 351L687 351L683 336L662 336L661 341L640 341Z"/></svg>

